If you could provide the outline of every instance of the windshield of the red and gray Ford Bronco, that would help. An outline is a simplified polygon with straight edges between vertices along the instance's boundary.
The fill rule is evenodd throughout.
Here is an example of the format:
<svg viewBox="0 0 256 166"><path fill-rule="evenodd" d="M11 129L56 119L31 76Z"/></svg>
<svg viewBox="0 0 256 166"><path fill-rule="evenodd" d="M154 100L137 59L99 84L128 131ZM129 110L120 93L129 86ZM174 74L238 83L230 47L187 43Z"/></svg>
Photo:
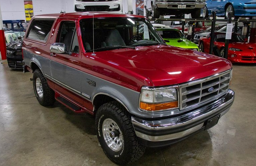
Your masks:
<svg viewBox="0 0 256 166"><path fill-rule="evenodd" d="M143 25L143 26L142 26ZM143 31L141 30L143 27ZM87 52L165 43L151 23L142 18L95 18L80 21L82 40ZM94 42L93 42L94 29Z"/></svg>

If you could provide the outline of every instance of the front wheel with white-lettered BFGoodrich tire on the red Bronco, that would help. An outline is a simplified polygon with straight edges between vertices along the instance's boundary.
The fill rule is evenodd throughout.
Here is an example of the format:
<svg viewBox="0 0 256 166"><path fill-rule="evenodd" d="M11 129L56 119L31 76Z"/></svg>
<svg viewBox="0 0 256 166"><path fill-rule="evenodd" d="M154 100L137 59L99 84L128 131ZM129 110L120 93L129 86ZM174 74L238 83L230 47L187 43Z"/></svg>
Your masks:
<svg viewBox="0 0 256 166"><path fill-rule="evenodd" d="M139 159L145 147L135 135L127 110L118 102L103 104L96 113L96 132L104 153L121 165Z"/></svg>

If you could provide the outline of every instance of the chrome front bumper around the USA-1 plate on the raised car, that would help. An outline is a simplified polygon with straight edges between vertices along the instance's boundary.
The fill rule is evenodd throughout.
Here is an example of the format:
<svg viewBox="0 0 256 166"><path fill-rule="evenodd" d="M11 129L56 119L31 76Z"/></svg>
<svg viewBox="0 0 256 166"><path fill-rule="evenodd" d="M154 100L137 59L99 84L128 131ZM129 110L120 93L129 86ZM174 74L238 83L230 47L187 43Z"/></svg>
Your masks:
<svg viewBox="0 0 256 166"><path fill-rule="evenodd" d="M205 7L205 4L206 3L197 3L197 2L180 2L180 3L177 3L177 2L156 2L156 7L157 8L167 8L167 9L177 9L177 6L178 5L192 5L194 7L186 7L186 9L195 9L195 8L203 8ZM175 7L170 7L169 5L172 5L172 6L175 6ZM184 10L184 9L182 9Z"/></svg>

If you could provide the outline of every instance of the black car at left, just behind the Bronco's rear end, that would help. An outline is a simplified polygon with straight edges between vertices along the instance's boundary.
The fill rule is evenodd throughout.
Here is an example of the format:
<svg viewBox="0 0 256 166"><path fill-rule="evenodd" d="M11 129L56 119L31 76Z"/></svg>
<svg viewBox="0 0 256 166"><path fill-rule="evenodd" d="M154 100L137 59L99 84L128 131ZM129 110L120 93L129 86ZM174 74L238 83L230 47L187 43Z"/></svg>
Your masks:
<svg viewBox="0 0 256 166"><path fill-rule="evenodd" d="M11 68L23 68L22 57L23 38L6 48L8 66Z"/></svg>

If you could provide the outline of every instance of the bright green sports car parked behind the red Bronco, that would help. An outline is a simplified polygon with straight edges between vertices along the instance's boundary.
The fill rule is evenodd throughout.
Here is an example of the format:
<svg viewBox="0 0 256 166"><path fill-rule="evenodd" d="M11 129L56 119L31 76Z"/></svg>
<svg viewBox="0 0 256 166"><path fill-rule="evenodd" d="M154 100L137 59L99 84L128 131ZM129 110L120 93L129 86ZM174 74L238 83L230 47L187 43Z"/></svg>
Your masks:
<svg viewBox="0 0 256 166"><path fill-rule="evenodd" d="M156 30L168 45L199 51L197 44L187 40L183 33L178 29L159 28Z"/></svg>

